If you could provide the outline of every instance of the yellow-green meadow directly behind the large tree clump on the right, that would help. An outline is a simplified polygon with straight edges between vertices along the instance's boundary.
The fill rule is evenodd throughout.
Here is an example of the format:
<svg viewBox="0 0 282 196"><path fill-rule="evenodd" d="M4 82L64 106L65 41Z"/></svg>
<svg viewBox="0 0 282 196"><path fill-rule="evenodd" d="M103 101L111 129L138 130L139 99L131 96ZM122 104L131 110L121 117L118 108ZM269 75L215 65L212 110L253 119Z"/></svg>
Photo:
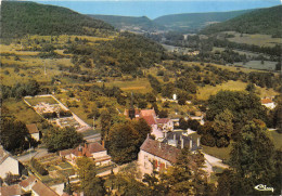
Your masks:
<svg viewBox="0 0 282 196"><path fill-rule="evenodd" d="M208 97L210 95L216 94L220 90L243 91L243 90L245 90L246 86L247 86L247 83L243 82L243 81L229 80L228 82L218 84L216 87L205 86L205 87L198 88L196 96L198 100L208 100ZM260 87L257 87L257 91L259 93L259 96L261 96L261 97L278 94L278 92L275 92L273 89L266 89L266 88L260 88Z"/></svg>

